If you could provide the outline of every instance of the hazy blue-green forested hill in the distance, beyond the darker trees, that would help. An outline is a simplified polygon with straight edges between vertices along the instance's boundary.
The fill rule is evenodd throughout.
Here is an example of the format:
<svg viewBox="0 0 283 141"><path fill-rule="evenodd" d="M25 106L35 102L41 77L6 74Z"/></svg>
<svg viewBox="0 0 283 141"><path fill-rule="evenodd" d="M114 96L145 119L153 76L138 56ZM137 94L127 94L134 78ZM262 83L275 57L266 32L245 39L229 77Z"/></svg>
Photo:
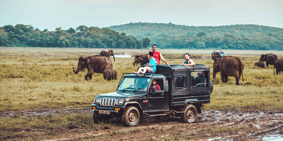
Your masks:
<svg viewBox="0 0 283 141"><path fill-rule="evenodd" d="M161 48L283 50L283 28L259 25L185 26L172 23L130 23L109 29L138 39L150 38Z"/></svg>

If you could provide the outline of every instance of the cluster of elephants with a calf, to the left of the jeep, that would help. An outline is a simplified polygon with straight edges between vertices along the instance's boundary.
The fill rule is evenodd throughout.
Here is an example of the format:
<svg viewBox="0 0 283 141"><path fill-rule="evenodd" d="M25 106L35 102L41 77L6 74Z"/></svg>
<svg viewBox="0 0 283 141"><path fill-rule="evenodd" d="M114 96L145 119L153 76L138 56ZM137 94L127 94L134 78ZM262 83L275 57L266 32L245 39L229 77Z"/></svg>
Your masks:
<svg viewBox="0 0 283 141"><path fill-rule="evenodd" d="M84 76L84 79L87 80L87 78L92 79L93 73L103 73L104 79L112 80L117 79L117 71L112 70L113 64L110 56L114 56L114 51L110 49L104 49L100 52L100 55L93 55L88 57L82 57L80 56L78 58L77 62L77 69L74 70L74 67L72 67L72 71L74 74L77 74L80 70L87 68L87 74Z"/></svg>

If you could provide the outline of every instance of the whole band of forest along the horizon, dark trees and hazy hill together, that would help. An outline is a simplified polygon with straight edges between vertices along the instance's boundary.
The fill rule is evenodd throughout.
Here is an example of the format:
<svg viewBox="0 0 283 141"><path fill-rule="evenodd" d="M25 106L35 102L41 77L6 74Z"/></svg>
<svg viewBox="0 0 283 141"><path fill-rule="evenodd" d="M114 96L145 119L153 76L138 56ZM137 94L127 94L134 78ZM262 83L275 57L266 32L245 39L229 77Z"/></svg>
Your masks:
<svg viewBox="0 0 283 141"><path fill-rule="evenodd" d="M283 28L259 25L185 26L129 23L108 28L84 25L54 31L31 25L0 27L4 47L158 48L283 50Z"/></svg>

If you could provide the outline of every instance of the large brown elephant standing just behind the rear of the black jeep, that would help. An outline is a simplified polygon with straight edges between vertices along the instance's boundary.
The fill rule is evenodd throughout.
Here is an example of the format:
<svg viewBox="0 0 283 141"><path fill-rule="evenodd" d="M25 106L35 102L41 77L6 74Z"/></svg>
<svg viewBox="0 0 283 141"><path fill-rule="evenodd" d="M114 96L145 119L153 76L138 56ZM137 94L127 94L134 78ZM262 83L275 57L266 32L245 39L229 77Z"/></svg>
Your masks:
<svg viewBox="0 0 283 141"><path fill-rule="evenodd" d="M213 62L213 79L215 79L216 73L220 72L223 83L228 81L228 76L234 76L236 85L239 85L241 75L244 82L243 69L244 63L239 57L223 56L222 58L215 58Z"/></svg>

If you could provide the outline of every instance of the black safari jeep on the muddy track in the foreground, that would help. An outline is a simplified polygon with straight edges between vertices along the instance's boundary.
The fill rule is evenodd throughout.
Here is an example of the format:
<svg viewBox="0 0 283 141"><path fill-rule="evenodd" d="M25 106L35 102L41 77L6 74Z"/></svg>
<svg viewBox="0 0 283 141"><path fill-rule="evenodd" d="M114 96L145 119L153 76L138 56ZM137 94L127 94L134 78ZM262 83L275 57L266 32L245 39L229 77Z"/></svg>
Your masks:
<svg viewBox="0 0 283 141"><path fill-rule="evenodd" d="M153 80L159 91L152 87ZM212 89L210 67L202 64L157 65L155 74L144 76L123 73L115 93L95 97L93 122L116 117L124 126L135 126L144 115L174 115L191 123L202 113L201 107L210 103Z"/></svg>

